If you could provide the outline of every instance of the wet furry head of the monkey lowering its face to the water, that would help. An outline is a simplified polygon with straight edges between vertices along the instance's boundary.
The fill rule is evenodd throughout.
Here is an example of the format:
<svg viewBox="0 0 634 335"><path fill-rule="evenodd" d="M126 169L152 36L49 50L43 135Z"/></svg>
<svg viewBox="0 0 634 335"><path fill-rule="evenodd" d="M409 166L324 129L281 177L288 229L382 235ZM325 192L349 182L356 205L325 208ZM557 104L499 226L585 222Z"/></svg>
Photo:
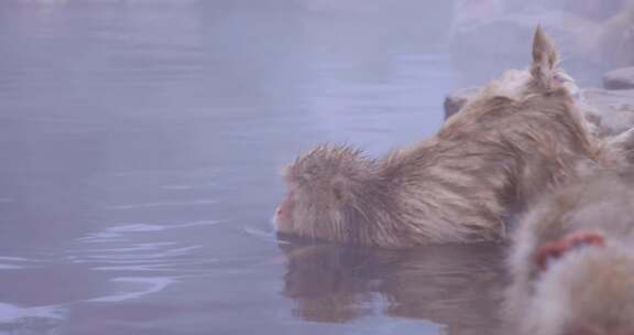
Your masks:
<svg viewBox="0 0 634 335"><path fill-rule="evenodd" d="M281 234L363 242L381 208L375 162L349 147L318 145L284 169L288 193L275 210ZM368 226L368 225L365 225Z"/></svg>

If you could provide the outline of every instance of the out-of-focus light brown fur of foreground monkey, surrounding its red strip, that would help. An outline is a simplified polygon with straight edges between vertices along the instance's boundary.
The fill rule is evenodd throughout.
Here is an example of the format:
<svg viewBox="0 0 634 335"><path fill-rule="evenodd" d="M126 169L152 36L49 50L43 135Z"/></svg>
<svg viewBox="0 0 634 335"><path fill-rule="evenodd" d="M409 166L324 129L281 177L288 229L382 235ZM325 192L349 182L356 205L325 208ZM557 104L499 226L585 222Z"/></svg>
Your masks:
<svg viewBox="0 0 634 335"><path fill-rule="evenodd" d="M634 334L634 179L597 172L545 197L514 236L505 294L509 333L518 335ZM588 233L589 231L589 233ZM549 260L546 246L592 234Z"/></svg>

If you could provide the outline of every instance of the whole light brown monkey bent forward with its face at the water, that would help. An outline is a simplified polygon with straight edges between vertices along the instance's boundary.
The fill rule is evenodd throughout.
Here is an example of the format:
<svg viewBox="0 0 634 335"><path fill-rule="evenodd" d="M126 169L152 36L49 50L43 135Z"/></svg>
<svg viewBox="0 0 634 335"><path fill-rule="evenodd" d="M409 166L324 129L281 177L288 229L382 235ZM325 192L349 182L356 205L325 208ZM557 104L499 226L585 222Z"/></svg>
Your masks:
<svg viewBox="0 0 634 335"><path fill-rule="evenodd" d="M335 145L300 155L284 172L278 231L389 248L504 238L509 216L608 152L540 29L533 57L418 144L380 159Z"/></svg>

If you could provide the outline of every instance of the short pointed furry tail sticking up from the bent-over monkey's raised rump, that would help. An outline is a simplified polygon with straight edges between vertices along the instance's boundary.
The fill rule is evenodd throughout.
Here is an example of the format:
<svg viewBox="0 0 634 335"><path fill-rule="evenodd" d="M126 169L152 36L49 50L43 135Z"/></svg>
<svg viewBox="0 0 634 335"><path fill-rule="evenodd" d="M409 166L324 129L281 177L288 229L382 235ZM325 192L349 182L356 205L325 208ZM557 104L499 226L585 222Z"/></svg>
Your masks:
<svg viewBox="0 0 634 335"><path fill-rule="evenodd" d="M533 37L533 65L531 65L531 75L537 87L550 89L555 80L557 62L559 62L559 54L553 40L538 25Z"/></svg>

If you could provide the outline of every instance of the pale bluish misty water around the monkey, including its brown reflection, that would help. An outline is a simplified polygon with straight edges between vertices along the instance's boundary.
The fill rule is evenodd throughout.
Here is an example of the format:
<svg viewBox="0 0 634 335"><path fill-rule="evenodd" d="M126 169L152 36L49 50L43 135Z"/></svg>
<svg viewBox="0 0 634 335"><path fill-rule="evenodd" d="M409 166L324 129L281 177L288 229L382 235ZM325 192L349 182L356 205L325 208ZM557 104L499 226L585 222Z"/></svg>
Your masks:
<svg viewBox="0 0 634 335"><path fill-rule="evenodd" d="M1 1L0 334L491 334L499 246L273 234L297 153L419 140L481 80L450 1L360 3Z"/></svg>

